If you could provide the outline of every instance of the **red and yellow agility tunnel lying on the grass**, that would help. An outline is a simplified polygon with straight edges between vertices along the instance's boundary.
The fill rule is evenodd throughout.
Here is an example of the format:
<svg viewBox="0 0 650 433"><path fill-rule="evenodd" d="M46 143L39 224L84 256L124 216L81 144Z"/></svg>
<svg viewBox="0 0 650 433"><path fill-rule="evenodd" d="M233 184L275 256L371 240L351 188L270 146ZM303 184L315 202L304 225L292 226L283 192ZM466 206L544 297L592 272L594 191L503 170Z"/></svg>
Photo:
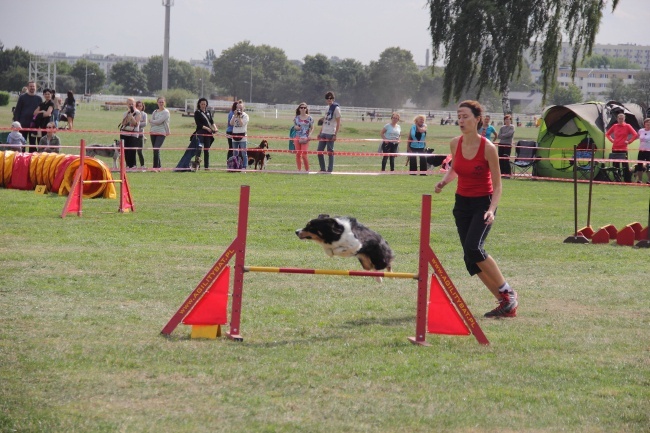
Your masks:
<svg viewBox="0 0 650 433"><path fill-rule="evenodd" d="M37 185L45 185L50 192L67 195L79 164L79 155L0 151L0 187L33 190ZM85 158L82 180L113 180L113 176L104 162ZM117 198L115 185L110 182L84 184L83 195Z"/></svg>

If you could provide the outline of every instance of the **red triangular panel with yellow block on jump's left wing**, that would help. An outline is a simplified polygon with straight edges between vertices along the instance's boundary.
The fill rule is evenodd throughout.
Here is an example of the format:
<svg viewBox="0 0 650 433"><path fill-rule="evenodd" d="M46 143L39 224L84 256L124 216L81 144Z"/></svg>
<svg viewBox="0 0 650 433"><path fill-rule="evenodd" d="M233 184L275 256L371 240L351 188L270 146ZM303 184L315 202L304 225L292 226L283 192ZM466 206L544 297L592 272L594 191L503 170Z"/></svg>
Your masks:
<svg viewBox="0 0 650 433"><path fill-rule="evenodd" d="M228 288L230 266L226 266L192 311L183 319L192 325L192 338L217 338L219 325L228 323Z"/></svg>

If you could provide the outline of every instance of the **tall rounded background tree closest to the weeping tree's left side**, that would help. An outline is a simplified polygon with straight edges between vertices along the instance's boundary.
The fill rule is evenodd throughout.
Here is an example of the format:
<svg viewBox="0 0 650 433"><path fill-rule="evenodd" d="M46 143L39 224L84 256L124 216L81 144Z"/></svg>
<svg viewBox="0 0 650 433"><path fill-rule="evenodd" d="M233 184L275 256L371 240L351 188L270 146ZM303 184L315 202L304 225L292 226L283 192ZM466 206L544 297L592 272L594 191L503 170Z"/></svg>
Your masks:
<svg viewBox="0 0 650 433"><path fill-rule="evenodd" d="M379 107L401 108L420 85L420 73L410 51L385 49L368 67L370 85Z"/></svg>

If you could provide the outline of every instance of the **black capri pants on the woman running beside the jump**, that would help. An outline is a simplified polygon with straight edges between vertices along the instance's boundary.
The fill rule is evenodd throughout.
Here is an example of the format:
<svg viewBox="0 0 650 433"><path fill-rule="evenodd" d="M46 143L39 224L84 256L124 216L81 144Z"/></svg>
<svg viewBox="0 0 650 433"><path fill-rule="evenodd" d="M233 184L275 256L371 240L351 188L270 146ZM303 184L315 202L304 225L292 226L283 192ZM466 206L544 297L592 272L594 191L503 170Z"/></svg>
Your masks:
<svg viewBox="0 0 650 433"><path fill-rule="evenodd" d="M488 253L483 249L485 238L487 238L492 224L485 224L483 215L490 207L492 196L464 197L456 194L454 205L454 219L460 237L460 244L463 246L463 259L470 275L481 272L477 263L487 259ZM494 212L496 215L496 211Z"/></svg>

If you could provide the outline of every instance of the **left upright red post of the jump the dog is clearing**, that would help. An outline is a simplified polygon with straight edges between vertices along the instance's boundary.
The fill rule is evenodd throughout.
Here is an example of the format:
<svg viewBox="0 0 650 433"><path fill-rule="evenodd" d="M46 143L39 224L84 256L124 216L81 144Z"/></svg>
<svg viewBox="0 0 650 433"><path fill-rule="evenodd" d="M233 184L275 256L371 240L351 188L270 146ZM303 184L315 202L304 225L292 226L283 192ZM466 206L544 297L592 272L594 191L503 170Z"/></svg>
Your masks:
<svg viewBox="0 0 650 433"><path fill-rule="evenodd" d="M235 246L235 274L232 291L232 305L230 312L230 331L226 336L231 340L242 341L240 335L241 305L244 292L244 263L246 263L246 235L248 233L248 202L250 199L250 186L242 185L239 190L239 218L237 221L237 238Z"/></svg>

